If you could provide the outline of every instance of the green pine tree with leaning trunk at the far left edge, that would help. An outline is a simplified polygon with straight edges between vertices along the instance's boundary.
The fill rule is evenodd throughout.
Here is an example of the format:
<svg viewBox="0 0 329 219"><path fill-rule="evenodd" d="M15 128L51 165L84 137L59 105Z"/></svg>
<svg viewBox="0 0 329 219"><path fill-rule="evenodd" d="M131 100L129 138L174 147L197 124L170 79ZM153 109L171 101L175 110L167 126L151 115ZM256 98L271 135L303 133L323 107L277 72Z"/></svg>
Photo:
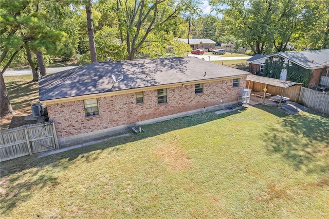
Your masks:
<svg viewBox="0 0 329 219"><path fill-rule="evenodd" d="M25 47L30 62L30 51L51 52L56 50L63 41L64 33L51 30L42 21L43 14L39 12L38 3L38 1L4 1L1 4L2 25L0 35L2 54L0 61L1 65L4 66L1 71L2 116L13 113L3 73L14 57ZM39 57L42 59L42 56ZM41 59L40 61L43 63L43 59Z"/></svg>

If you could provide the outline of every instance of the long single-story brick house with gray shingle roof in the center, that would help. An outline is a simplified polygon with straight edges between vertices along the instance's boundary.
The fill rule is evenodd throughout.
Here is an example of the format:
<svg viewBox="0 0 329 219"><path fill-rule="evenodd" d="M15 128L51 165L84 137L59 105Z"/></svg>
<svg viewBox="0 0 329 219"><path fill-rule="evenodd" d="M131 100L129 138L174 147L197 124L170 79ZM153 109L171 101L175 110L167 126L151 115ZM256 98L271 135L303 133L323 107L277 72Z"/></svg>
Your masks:
<svg viewBox="0 0 329 219"><path fill-rule="evenodd" d="M64 145L232 107L247 75L194 57L98 62L44 77L39 95Z"/></svg>

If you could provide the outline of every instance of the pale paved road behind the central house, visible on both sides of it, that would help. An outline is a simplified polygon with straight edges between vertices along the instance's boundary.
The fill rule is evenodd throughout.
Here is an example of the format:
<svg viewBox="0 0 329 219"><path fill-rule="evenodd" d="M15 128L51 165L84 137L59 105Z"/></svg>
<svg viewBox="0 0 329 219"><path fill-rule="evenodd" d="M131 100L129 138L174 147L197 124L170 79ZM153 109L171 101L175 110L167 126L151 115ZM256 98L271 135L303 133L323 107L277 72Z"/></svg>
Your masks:
<svg viewBox="0 0 329 219"><path fill-rule="evenodd" d="M206 61L222 61L222 60L239 60L239 59L249 59L251 56L244 57L221 57L221 56L212 56L212 55L197 55L189 54L189 57L197 57L199 59L204 59ZM67 67L58 67L58 68L46 68L47 73L55 73L59 71L64 71L67 69L75 68L78 66L67 66ZM20 76L20 75L32 75L31 69L25 70L6 70L4 76Z"/></svg>

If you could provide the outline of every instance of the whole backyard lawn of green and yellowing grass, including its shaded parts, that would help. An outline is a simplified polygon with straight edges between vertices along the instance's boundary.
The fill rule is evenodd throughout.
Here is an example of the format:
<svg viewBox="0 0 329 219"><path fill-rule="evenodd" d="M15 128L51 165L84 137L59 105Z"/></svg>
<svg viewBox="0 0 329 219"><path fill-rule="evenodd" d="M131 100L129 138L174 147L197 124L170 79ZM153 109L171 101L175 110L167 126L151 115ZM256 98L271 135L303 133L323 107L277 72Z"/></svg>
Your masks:
<svg viewBox="0 0 329 219"><path fill-rule="evenodd" d="M1 163L3 218L327 218L329 118L265 106Z"/></svg>

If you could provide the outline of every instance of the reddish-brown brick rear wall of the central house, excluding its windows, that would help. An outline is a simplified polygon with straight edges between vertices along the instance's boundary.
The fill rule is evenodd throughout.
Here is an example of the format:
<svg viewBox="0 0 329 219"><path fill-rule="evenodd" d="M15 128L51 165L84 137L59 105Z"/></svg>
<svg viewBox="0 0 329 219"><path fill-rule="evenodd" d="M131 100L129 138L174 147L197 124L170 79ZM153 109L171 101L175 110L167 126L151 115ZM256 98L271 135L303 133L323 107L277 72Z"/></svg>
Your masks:
<svg viewBox="0 0 329 219"><path fill-rule="evenodd" d="M136 104L136 94L98 98L99 116L85 117L83 100L47 104L49 119L56 125L58 138L108 129L110 127L192 111L208 106L237 101L239 88L233 80L204 83L203 94L195 94L195 85L168 88L167 103L157 103L157 89L143 92L144 103Z"/></svg>

